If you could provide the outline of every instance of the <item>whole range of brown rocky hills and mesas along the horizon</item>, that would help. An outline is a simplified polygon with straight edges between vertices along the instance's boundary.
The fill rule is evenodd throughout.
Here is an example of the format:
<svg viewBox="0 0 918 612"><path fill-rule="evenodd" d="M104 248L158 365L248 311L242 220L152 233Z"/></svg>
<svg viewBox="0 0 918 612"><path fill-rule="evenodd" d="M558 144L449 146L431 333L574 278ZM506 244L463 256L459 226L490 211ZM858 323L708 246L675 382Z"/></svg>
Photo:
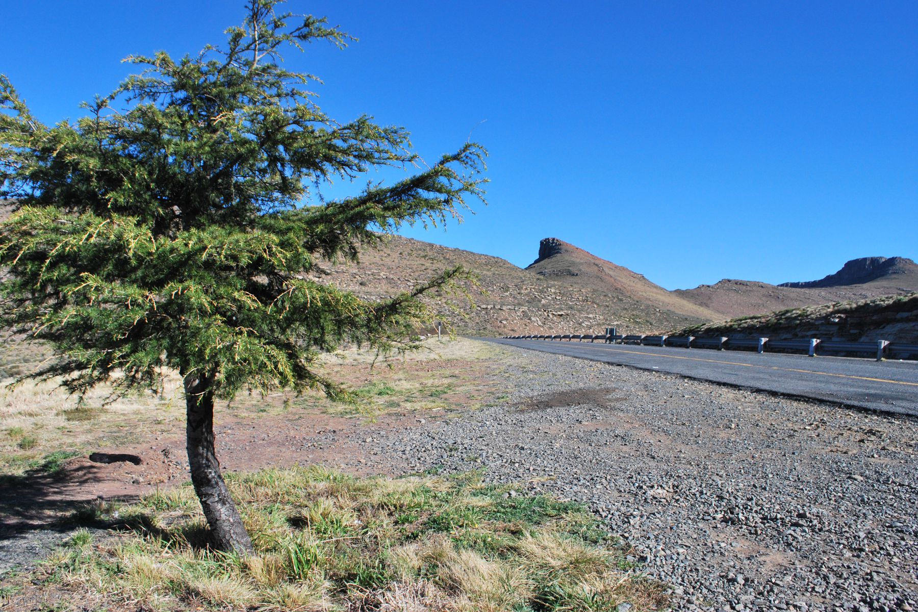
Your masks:
<svg viewBox="0 0 918 612"><path fill-rule="evenodd" d="M0 202L0 219L12 208ZM904 257L848 261L820 281L780 285L723 279L694 289L667 291L643 274L603 260L558 238L539 243L526 268L498 257L391 236L378 249L361 249L360 263L323 261L312 275L365 298L383 298L463 265L479 275L485 295L456 319L470 334L626 333L675 328L834 302L918 291L918 264ZM444 311L444 318L448 313Z"/></svg>

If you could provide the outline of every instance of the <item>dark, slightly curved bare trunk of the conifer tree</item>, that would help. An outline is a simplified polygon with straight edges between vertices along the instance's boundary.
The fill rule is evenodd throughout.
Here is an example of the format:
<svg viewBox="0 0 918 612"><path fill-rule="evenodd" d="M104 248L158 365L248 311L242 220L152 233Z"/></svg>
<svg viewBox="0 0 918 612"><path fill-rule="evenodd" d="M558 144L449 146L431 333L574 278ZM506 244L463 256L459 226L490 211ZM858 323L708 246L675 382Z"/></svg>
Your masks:
<svg viewBox="0 0 918 612"><path fill-rule="evenodd" d="M208 376L185 376L185 408L191 482L207 517L213 543L220 551L248 554L253 551L252 540L220 475L214 451L214 394Z"/></svg>

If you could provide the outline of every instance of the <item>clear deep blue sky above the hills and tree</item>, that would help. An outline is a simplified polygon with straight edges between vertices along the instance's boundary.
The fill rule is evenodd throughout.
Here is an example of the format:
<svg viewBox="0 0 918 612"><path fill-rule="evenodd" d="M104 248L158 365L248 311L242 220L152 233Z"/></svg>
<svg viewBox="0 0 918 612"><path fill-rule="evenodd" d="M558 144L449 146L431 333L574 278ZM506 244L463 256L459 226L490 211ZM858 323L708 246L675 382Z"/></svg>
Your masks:
<svg viewBox="0 0 918 612"><path fill-rule="evenodd" d="M332 117L406 126L429 161L470 132L490 150L490 205L411 237L525 266L553 236L669 289L918 259L914 0L287 7L360 39L288 54ZM129 53L194 53L242 17L224 0L0 9L0 72L50 123Z"/></svg>

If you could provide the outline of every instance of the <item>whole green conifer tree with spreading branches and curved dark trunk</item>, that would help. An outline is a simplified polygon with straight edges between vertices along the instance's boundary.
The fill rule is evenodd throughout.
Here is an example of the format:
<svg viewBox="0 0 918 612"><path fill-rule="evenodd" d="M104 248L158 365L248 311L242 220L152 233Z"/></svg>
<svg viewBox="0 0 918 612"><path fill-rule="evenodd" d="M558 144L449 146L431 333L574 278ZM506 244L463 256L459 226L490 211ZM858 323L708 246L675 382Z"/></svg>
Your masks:
<svg viewBox="0 0 918 612"><path fill-rule="evenodd" d="M404 128L372 117L337 123L315 104L317 79L281 51L350 39L325 19L250 0L224 46L142 67L53 127L0 76L0 324L49 342L59 359L33 376L77 395L158 389L180 373L192 482L214 545L252 550L214 451L215 400L242 389L345 392L317 371L322 351L353 342L391 351L429 318L431 289L364 301L310 280L321 258L356 261L380 230L439 224L481 198L484 150L466 143L426 167ZM420 168L323 201L319 184L378 166Z"/></svg>

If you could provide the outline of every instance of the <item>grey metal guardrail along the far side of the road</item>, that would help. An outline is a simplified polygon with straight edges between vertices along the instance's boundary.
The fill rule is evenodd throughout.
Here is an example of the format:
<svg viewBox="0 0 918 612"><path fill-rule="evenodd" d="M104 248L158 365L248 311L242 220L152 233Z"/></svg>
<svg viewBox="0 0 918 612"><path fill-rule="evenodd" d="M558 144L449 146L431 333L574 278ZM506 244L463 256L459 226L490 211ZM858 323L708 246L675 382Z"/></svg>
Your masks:
<svg viewBox="0 0 918 612"><path fill-rule="evenodd" d="M911 358L918 359L918 344L905 342L890 342L888 340L875 340L869 342L848 342L845 340L823 340L819 338L805 339L768 339L768 338L727 338L704 336L642 336L631 334L603 335L603 334L539 334L525 336L503 336L504 339L544 339L544 340L589 340L595 342L602 340L605 343L641 344L644 346L684 347L686 349L712 349L715 351L800 351L811 357L823 354L871 354L876 355L877 361L882 361L889 356L892 359Z"/></svg>

